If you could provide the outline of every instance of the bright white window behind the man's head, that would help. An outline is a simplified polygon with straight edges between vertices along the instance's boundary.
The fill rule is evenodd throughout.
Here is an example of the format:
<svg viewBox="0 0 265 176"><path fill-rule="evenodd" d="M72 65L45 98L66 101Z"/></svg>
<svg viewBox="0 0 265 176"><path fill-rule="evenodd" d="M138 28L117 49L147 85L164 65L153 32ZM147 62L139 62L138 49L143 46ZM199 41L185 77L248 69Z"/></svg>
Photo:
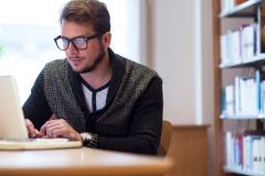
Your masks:
<svg viewBox="0 0 265 176"><path fill-rule="evenodd" d="M21 102L45 63L64 58L53 38L68 0L0 0L0 74L17 78ZM112 18L112 48L139 62L139 0L103 0ZM14 6L15 4L15 6Z"/></svg>

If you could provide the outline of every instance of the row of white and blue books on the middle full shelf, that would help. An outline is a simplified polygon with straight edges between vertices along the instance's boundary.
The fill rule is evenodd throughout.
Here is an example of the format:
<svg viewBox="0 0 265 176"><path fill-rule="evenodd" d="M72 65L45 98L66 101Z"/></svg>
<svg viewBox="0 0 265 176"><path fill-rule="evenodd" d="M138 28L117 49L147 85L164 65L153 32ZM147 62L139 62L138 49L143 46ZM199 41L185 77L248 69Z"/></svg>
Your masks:
<svg viewBox="0 0 265 176"><path fill-rule="evenodd" d="M265 114L265 80L261 80L261 72L256 70L254 78L236 76L234 85L223 87L221 100L224 118Z"/></svg>

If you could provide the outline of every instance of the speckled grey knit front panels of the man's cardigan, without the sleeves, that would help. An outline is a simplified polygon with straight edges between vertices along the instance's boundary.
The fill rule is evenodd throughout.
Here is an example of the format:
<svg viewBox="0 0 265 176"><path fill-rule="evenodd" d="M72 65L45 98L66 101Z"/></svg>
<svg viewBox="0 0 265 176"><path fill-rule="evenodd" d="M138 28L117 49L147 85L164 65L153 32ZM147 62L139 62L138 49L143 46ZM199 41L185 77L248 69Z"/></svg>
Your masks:
<svg viewBox="0 0 265 176"><path fill-rule="evenodd" d="M130 125L130 113L136 100L146 90L155 72L134 63L125 62L125 73L113 102L98 118L96 131L99 135L127 135ZM67 74L67 62L59 59L49 63L44 68L44 94L53 113L65 119L76 131L86 131L86 119L74 97Z"/></svg>

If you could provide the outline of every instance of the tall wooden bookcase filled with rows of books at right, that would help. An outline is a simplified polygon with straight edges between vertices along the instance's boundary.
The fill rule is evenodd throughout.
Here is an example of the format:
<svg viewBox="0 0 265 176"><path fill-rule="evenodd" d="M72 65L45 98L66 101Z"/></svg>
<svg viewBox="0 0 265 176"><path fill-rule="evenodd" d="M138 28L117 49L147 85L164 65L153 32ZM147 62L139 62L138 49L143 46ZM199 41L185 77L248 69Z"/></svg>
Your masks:
<svg viewBox="0 0 265 176"><path fill-rule="evenodd" d="M212 7L213 175L265 176L265 0Z"/></svg>

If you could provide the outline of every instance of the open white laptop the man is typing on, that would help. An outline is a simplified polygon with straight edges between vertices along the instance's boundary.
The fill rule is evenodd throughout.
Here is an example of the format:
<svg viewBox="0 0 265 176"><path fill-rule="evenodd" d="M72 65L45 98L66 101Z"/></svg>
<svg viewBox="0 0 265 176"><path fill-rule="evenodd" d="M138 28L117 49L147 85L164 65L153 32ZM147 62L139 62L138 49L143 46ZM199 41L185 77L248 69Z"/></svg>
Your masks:
<svg viewBox="0 0 265 176"><path fill-rule="evenodd" d="M81 147L68 139L29 139L13 76L0 76L0 150Z"/></svg>

